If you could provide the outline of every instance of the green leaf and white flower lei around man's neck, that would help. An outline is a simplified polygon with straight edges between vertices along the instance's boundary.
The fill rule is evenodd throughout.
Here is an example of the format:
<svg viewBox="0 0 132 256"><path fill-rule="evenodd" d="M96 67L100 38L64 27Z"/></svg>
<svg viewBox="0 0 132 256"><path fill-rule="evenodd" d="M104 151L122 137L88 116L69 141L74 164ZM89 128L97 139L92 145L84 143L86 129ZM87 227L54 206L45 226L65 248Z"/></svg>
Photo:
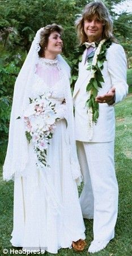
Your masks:
<svg viewBox="0 0 132 256"><path fill-rule="evenodd" d="M87 70L90 70L90 76L88 77L88 82L86 86L86 92L88 94L88 99L86 101L87 113L89 117L88 129L90 132L90 138L92 138L93 133L93 123L97 123L99 117L99 103L95 101L97 92L99 88L102 88L101 83L104 82L103 75L101 70L104 67L104 61L106 59L107 49L112 44L110 39L103 39L99 44L96 44L97 48L93 56L92 62L88 62ZM82 54L85 50L85 46L82 45L76 50L75 59L73 60L73 70L71 72L71 87L75 83L75 80L78 78L78 62L82 60Z"/></svg>

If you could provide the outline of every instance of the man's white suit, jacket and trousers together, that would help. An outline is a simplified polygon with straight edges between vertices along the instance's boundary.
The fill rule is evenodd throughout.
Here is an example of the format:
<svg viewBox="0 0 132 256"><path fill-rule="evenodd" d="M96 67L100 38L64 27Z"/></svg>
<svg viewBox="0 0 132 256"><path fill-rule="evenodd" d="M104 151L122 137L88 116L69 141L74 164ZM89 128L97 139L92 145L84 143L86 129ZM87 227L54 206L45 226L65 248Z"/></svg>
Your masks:
<svg viewBox="0 0 132 256"><path fill-rule="evenodd" d="M90 71L87 68L87 50L79 63L79 76L75 83L73 101L75 106L75 139L77 141L80 168L84 187L80 204L84 218L93 218L93 239L109 241L114 237L118 210L118 185L114 172L114 106L99 104L99 119L93 126L93 137L88 135L88 115L85 106L86 86ZM116 43L107 50L107 61L102 71L104 83L98 95L116 88L118 103L127 94L126 56L122 46Z"/></svg>

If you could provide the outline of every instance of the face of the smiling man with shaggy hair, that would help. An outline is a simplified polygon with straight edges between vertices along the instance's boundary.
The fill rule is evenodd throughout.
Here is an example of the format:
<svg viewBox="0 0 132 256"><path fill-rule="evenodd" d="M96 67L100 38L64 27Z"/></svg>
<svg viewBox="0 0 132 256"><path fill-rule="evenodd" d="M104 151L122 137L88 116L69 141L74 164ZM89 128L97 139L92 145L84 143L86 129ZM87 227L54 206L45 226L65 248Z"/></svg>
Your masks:
<svg viewBox="0 0 132 256"><path fill-rule="evenodd" d="M84 20L84 32L89 42L99 41L103 35L104 23L97 17Z"/></svg>

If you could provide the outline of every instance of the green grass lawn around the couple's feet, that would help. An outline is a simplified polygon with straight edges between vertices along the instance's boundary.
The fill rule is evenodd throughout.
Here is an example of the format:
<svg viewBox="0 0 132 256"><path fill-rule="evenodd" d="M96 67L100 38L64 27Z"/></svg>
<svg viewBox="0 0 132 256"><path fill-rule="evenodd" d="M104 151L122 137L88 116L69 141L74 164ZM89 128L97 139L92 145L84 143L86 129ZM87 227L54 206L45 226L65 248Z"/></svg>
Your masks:
<svg viewBox="0 0 132 256"><path fill-rule="evenodd" d="M116 174L120 190L118 220L116 225L115 238L109 245L99 253L90 254L96 256L131 256L131 169L132 169L132 95L121 103L116 105L116 147L115 161ZM12 231L12 210L13 210L13 182L4 182L2 180L1 166L1 223L0 223L0 246L6 248L17 249L11 247L10 234ZM85 220L86 225L86 240L88 246L92 241L92 220ZM52 242L52 241L51 241ZM20 250L20 248L19 248ZM13 254L13 253L12 253ZM1 252L1 255L5 255ZM6 255L11 255L7 253ZM16 254L15 254L16 255ZM20 254L18 254L20 255ZM26 254L23 254L26 255ZM36 254L37 255L37 254ZM41 254L42 255L42 254ZM46 256L53 254L45 253ZM82 253L76 253L74 250L61 249L59 256L87 256L87 249Z"/></svg>

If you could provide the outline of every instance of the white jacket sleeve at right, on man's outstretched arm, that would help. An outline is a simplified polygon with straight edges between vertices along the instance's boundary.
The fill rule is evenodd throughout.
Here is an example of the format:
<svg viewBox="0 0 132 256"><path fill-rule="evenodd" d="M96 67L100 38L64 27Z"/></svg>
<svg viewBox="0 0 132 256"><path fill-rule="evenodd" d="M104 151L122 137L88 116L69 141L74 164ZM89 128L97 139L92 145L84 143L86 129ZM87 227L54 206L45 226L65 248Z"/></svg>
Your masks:
<svg viewBox="0 0 132 256"><path fill-rule="evenodd" d="M108 50L107 60L112 87L116 88L116 104L124 99L128 92L126 83L127 62L124 48L120 44L113 43Z"/></svg>

